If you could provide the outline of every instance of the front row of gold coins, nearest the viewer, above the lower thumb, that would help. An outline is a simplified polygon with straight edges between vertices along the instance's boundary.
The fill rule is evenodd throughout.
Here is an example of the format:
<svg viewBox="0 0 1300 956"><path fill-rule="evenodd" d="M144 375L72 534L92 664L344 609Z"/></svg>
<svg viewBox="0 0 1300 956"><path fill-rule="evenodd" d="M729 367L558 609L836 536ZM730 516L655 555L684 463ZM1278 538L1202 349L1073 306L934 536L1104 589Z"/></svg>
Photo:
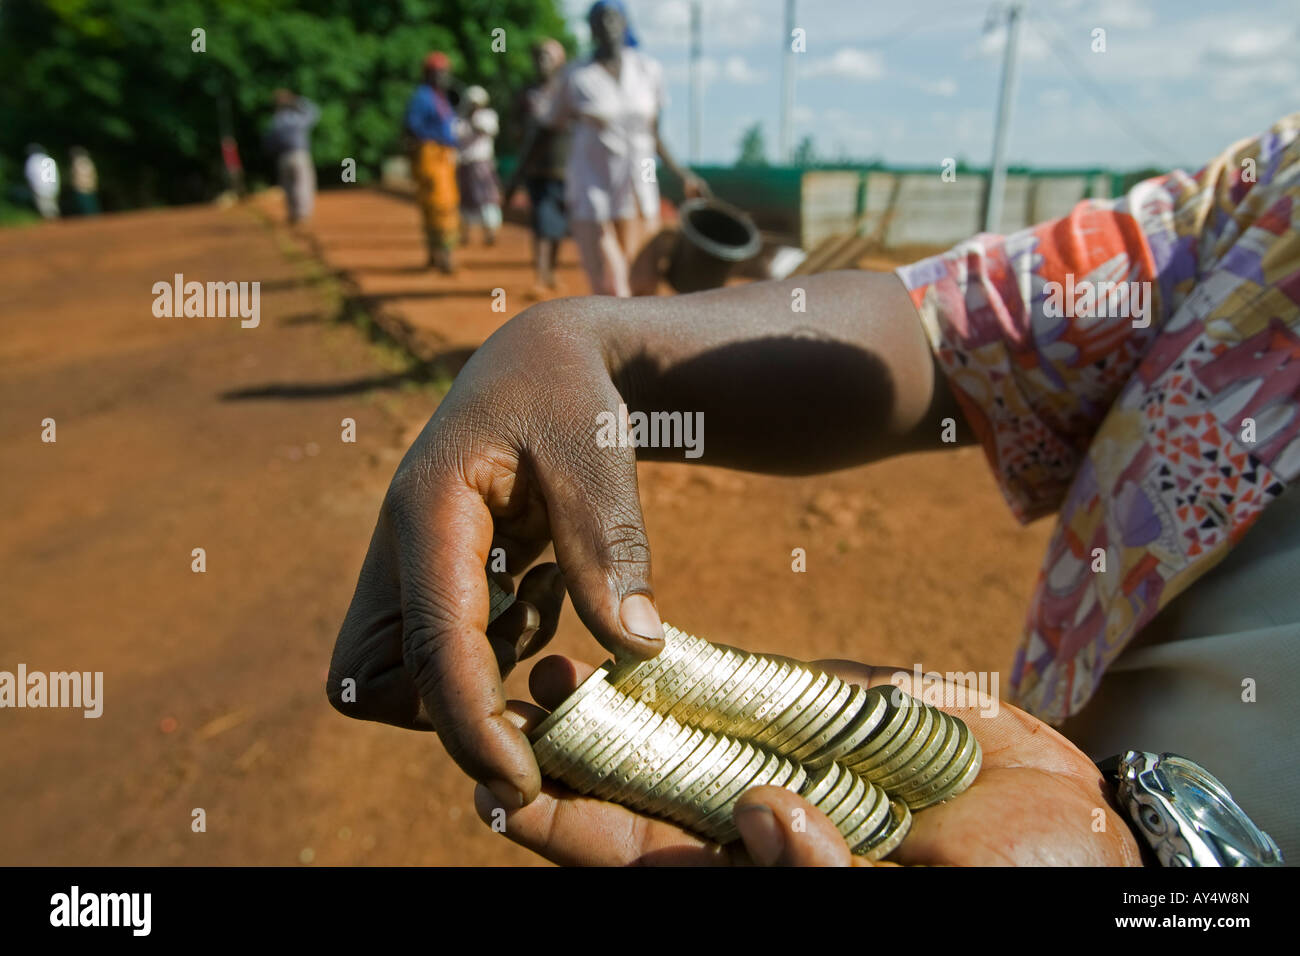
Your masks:
<svg viewBox="0 0 1300 956"><path fill-rule="evenodd" d="M907 806L831 762L811 777L796 760L658 713L595 670L532 732L542 773L581 793L676 821L729 843L750 787L785 787L824 812L857 853L879 858L907 832Z"/></svg>

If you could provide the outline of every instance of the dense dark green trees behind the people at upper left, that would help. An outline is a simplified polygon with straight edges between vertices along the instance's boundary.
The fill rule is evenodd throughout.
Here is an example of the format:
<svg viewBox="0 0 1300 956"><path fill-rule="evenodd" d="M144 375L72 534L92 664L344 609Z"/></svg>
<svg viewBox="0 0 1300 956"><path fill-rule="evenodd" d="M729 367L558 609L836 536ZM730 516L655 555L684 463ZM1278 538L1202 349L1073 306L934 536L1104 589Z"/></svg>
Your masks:
<svg viewBox="0 0 1300 956"><path fill-rule="evenodd" d="M269 179L261 133L282 86L321 107L321 185L348 157L365 181L398 148L430 49L508 117L541 36L572 48L555 0L3 0L0 190L39 142L64 166L84 146L108 208L205 199L224 182L224 122L250 178Z"/></svg>

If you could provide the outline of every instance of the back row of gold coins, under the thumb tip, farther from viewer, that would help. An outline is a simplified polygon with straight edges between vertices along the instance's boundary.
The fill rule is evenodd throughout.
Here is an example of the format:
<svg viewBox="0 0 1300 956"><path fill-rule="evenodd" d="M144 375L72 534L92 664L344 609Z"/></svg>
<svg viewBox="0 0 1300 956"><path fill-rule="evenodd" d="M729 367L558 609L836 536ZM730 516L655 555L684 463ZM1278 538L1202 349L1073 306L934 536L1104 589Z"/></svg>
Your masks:
<svg viewBox="0 0 1300 956"><path fill-rule="evenodd" d="M616 666L610 680L659 713L810 770L838 761L914 810L961 793L979 774L982 752L966 723L900 688L866 689L675 627L664 627L658 657Z"/></svg>

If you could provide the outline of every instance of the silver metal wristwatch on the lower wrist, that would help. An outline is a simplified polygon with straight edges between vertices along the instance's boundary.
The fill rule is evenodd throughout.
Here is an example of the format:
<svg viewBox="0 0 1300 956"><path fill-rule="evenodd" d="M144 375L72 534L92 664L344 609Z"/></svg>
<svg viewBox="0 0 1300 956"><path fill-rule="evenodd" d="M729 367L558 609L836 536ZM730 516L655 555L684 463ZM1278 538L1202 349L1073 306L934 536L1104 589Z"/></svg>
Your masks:
<svg viewBox="0 0 1300 956"><path fill-rule="evenodd" d="M1200 763L1126 750L1097 765L1161 866L1280 866L1282 851Z"/></svg>

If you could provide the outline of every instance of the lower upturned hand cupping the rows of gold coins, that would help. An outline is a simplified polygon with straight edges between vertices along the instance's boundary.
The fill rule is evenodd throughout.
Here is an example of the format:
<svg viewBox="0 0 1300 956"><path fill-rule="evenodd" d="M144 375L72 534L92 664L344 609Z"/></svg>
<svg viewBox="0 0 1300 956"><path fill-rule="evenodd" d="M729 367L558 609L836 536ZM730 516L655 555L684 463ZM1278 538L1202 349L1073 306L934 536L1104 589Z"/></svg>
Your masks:
<svg viewBox="0 0 1300 956"><path fill-rule="evenodd" d="M840 678L863 685L888 684L890 669L846 661L818 662ZM533 674L533 693L549 706L567 696L590 667L547 658ZM910 680L910 678L909 678ZM910 691L909 682L902 688ZM920 693L920 688L916 688ZM1076 747L1024 711L1008 704L942 709L971 727L984 750L979 778L959 797L913 818L911 830L892 856L907 865L1140 865L1127 826L1105 796L1101 774ZM530 726L537 708L512 702L515 719ZM989 715L984 715L988 713ZM500 810L480 787L476 805L486 821ZM779 813L802 805L806 831L786 834L794 843L788 862L871 865L853 857L829 821L792 793L758 788L745 803L762 800ZM815 814L815 819L812 818ZM559 864L654 865L749 862L740 844L718 847L682 827L645 817L618 804L572 793L546 782L528 806L507 812L506 835ZM837 844L837 845L836 845Z"/></svg>

